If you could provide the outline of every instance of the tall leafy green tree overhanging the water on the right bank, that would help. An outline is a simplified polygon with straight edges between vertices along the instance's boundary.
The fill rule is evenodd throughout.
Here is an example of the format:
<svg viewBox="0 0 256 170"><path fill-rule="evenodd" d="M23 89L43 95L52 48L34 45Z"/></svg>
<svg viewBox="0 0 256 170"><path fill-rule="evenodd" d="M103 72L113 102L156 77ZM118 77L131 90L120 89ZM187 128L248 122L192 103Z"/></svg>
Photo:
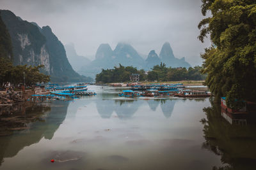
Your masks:
<svg viewBox="0 0 256 170"><path fill-rule="evenodd" d="M227 97L230 108L242 101L256 101L256 1L202 0L198 37L210 34L212 46L205 49L205 84L220 99Z"/></svg>

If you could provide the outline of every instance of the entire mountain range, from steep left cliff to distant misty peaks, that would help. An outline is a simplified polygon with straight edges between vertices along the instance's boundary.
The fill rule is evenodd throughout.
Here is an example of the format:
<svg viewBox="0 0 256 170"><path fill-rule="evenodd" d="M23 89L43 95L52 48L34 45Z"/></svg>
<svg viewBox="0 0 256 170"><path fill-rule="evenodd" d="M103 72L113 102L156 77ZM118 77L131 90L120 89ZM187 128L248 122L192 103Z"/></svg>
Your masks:
<svg viewBox="0 0 256 170"><path fill-rule="evenodd" d="M50 75L51 81L93 81L92 78L102 69L112 69L119 64L145 70L161 62L168 67L190 66L184 58L177 59L173 55L169 43L164 43L159 56L154 50L150 51L147 59L143 59L127 43L118 43L114 50L108 44L101 44L95 59L91 61L77 55L74 45L66 45L64 48L49 26L39 27L35 22L22 20L9 10L0 10L0 19L10 34L12 52L8 53L12 53L9 58L13 64L44 65L41 72ZM0 33L6 34L1 30ZM0 52L4 53L4 50L0 49Z"/></svg>

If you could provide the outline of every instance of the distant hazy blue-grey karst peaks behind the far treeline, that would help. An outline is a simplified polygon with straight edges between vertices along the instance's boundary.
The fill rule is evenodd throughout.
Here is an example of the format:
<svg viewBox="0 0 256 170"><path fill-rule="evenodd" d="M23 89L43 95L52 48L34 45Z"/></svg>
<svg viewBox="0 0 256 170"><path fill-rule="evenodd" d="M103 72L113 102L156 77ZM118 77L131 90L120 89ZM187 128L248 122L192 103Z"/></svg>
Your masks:
<svg viewBox="0 0 256 170"><path fill-rule="evenodd" d="M167 67L190 67L190 64L185 61L185 58L177 59L173 55L170 43L164 43L159 56L155 50L148 53L147 59L143 59L141 55L129 44L118 43L115 50L111 49L108 44L101 44L95 54L95 60L90 62L86 57L78 56L74 46L65 46L68 60L72 67L80 74L95 77L102 69L111 69L114 66L134 66L138 69L150 70L157 64L164 62ZM69 55L70 54L70 55ZM79 59L81 62L77 62ZM87 60L84 63L82 60ZM83 65L83 66L82 66Z"/></svg>

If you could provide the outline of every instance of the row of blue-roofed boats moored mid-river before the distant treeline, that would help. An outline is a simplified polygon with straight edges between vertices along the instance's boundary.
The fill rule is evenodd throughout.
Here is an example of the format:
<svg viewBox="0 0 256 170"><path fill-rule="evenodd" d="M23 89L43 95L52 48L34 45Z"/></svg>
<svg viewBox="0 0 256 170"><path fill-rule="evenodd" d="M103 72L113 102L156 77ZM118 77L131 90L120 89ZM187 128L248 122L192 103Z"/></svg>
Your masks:
<svg viewBox="0 0 256 170"><path fill-rule="evenodd" d="M141 90L143 92L140 92ZM136 85L136 87L132 87L131 90L123 90L123 92L118 95L120 97L210 97L211 93L207 92L207 90L184 89L182 84L176 84Z"/></svg>

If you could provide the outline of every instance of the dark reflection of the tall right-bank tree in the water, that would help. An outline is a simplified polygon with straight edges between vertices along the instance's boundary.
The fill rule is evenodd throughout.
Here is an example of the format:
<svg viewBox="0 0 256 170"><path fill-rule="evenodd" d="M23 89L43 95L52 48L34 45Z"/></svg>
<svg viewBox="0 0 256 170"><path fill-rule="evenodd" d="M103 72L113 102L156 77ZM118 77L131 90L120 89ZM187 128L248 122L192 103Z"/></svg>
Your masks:
<svg viewBox="0 0 256 170"><path fill-rule="evenodd" d="M221 155L228 164L212 169L256 169L256 126L230 125L221 117L220 105L204 108L207 119L202 119L205 142L202 147Z"/></svg>

